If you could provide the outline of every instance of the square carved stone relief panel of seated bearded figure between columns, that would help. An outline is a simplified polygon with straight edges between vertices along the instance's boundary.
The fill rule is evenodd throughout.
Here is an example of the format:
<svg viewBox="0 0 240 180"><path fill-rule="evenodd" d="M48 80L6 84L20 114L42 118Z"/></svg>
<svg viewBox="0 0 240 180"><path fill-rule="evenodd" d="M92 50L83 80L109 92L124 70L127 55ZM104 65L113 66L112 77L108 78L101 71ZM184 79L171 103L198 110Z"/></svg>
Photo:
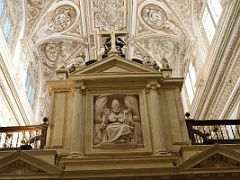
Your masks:
<svg viewBox="0 0 240 180"><path fill-rule="evenodd" d="M94 118L94 145L143 143L136 95L96 97Z"/></svg>

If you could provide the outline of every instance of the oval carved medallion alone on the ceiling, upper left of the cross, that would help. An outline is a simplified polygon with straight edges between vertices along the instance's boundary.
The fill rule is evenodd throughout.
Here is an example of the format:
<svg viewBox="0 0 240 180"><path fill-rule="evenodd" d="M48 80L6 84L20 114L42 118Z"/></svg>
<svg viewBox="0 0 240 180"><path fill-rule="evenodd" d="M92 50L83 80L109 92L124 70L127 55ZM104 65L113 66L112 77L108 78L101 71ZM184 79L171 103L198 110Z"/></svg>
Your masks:
<svg viewBox="0 0 240 180"><path fill-rule="evenodd" d="M72 26L76 19L76 9L70 5L64 5L54 10L48 25L52 31L62 32Z"/></svg>

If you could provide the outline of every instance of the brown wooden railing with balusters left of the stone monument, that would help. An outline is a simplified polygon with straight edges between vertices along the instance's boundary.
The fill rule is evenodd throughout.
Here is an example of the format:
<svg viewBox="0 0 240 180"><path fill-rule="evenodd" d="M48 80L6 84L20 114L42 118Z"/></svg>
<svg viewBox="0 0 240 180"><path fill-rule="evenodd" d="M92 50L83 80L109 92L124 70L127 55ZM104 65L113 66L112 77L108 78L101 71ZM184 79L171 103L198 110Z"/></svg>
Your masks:
<svg viewBox="0 0 240 180"><path fill-rule="evenodd" d="M0 150L43 149L47 136L47 118L33 126L0 127Z"/></svg>

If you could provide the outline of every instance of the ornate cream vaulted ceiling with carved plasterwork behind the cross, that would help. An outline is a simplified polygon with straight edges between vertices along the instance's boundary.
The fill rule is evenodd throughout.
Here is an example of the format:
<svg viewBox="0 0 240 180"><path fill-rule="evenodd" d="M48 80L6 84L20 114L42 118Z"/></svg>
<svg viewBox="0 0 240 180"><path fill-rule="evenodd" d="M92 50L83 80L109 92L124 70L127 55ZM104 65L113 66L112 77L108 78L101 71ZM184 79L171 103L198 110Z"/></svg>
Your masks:
<svg viewBox="0 0 240 180"><path fill-rule="evenodd" d="M127 31L126 58L167 59L174 76L183 76L194 40L192 18L201 7L191 0L28 0L28 53L44 79L65 64L101 59L101 32Z"/></svg>

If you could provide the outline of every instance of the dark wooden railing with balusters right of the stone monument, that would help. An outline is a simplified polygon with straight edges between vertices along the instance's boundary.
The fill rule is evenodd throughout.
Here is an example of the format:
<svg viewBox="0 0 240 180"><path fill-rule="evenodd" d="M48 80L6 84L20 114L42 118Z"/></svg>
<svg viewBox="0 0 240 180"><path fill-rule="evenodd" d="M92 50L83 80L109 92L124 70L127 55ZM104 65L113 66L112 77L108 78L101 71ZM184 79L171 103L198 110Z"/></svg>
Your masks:
<svg viewBox="0 0 240 180"><path fill-rule="evenodd" d="M193 145L239 144L240 120L186 120Z"/></svg>

